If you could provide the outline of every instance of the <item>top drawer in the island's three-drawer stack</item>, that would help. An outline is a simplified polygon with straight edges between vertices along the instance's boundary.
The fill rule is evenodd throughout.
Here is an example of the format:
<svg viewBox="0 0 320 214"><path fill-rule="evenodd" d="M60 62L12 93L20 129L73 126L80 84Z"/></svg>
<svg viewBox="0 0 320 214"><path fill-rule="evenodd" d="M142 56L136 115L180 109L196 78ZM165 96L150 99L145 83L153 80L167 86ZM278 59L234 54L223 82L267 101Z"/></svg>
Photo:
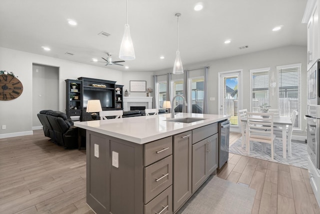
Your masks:
<svg viewBox="0 0 320 214"><path fill-rule="evenodd" d="M144 166L150 165L172 154L172 137L144 144Z"/></svg>

